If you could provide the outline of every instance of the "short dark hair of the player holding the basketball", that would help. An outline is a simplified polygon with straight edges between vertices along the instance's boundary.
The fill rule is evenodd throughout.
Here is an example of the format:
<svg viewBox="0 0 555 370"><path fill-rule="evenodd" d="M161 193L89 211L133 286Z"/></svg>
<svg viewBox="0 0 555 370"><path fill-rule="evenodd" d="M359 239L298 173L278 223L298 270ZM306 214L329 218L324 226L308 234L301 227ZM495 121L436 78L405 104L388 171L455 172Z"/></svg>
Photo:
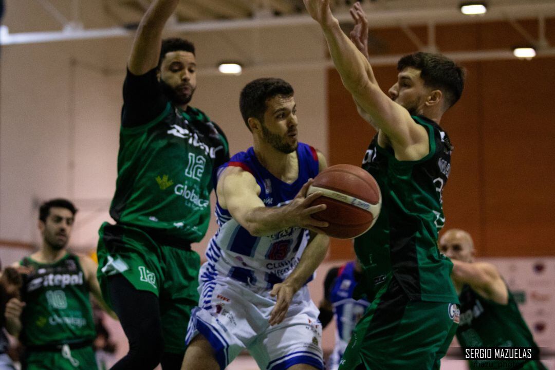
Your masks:
<svg viewBox="0 0 555 370"><path fill-rule="evenodd" d="M249 118L264 122L266 100L276 96L292 97L295 94L291 85L281 78L258 78L245 85L239 97L239 109L250 131Z"/></svg>

